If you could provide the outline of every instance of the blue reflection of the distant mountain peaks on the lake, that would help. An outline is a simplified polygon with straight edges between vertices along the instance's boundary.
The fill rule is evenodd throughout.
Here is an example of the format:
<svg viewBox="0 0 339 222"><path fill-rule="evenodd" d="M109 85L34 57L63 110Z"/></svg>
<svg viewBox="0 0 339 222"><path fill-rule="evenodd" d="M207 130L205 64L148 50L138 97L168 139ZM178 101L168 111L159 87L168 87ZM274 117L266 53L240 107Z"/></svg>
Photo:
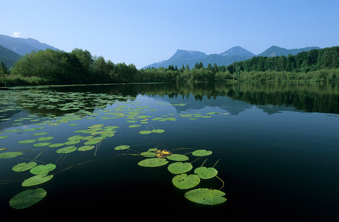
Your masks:
<svg viewBox="0 0 339 222"><path fill-rule="evenodd" d="M166 101L169 103L184 103L185 106L174 106L174 108L177 110L177 112L186 112L188 110L192 109L203 109L206 106L208 107L217 107L226 110L227 113L230 113L231 115L238 115L242 111L245 111L246 109L252 108L252 104L248 102L244 102L241 100L233 100L226 96L217 96L215 98L208 99L207 96L199 96L199 99L197 99L197 96L190 95L190 96L178 96L177 98L170 98L168 96L159 97L159 96L153 96L152 98L159 99L161 101ZM297 110L294 107L291 106L276 106L276 105L255 105L257 108L262 109L263 112L267 114L274 114L279 113L281 111L294 111Z"/></svg>

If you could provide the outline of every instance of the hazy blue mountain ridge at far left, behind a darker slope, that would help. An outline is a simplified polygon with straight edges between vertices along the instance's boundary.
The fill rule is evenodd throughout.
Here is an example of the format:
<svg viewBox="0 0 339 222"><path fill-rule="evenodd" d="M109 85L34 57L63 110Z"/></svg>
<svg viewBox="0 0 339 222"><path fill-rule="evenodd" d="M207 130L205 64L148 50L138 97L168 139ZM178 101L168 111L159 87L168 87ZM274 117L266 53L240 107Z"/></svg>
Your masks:
<svg viewBox="0 0 339 222"><path fill-rule="evenodd" d="M25 55L26 53L30 53L32 50L45 50L46 48L51 48L54 50L59 50L51 45L47 45L46 43L41 43L38 40L31 38L14 38L6 35L0 35L0 45L5 48L16 52L19 55Z"/></svg>

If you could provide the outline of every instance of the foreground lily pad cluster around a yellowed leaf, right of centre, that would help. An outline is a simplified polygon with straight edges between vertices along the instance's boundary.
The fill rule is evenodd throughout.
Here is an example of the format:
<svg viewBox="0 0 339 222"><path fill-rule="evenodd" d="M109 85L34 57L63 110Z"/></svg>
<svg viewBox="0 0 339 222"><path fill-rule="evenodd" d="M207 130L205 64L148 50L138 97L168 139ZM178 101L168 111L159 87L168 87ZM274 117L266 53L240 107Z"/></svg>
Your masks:
<svg viewBox="0 0 339 222"><path fill-rule="evenodd" d="M129 149L129 147L130 146L128 145L120 145L120 146L115 147L115 149L123 150L123 149ZM199 157L198 159L200 159L203 156L211 155L212 151L200 149L200 150L195 150L194 152L191 152L191 153L193 156ZM190 153L187 153L187 154L190 154ZM128 155L131 155L131 154L128 154ZM136 155L136 154L132 154L132 155ZM217 174L218 174L218 171L214 168L214 166L208 167L208 168L204 167L203 166L203 164L205 163L204 162L200 167L194 169L194 174L187 175L185 173L192 170L193 168L192 163L198 159L192 161L191 163L183 162L189 159L186 155L173 154L173 152L167 151L166 149L159 150L157 148L151 148L151 149L148 149L146 152L142 152L138 155L144 156L144 157L151 157L148 159L144 159L138 163L139 166L144 166L144 167L163 166L169 162L168 160L178 161L178 162L169 164L167 169L172 174L178 174L177 176L173 177L172 183L174 186L176 186L179 189L193 188L200 183L200 179L210 179L213 177L217 177ZM222 183L224 184L223 181ZM215 204L220 204L226 201L226 198L222 197L225 195L225 193L220 191L220 189L216 190L216 189L210 189L210 188L198 188L198 189L187 191L184 194L184 196L188 200L199 203L199 204L215 205Z"/></svg>

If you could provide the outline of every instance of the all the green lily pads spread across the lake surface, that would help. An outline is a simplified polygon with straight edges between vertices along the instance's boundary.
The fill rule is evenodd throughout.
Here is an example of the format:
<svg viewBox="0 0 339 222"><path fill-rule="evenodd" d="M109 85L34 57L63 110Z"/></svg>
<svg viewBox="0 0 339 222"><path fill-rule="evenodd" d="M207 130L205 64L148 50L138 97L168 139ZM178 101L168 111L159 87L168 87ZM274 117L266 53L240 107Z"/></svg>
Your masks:
<svg viewBox="0 0 339 222"><path fill-rule="evenodd" d="M4 95L3 93L1 95ZM123 105L116 105L119 103L119 100L123 101ZM129 102L127 102L129 100ZM30 145L33 147L45 147L46 149L60 147L55 150L58 154L67 154L71 152L78 151L87 151L95 148L94 144L97 144L97 148L100 143L110 137L115 136L118 130L128 129L128 128L136 128L141 127L143 124L147 124L153 121L176 121L177 119L173 117L176 114L168 114L162 116L149 116L149 115L141 115L141 113L146 112L156 112L157 109L149 109L149 106L141 106L138 105L138 101L135 101L136 98L130 96L122 96L122 95L107 95L107 94L92 94L92 93L61 93L61 92L53 92L53 91L35 91L35 90L11 90L0 98L0 121L8 121L11 118L4 118L2 116L6 112L10 112L12 110L53 110L53 113L31 113L26 115L26 117L20 117L15 119L14 121L17 123L12 124L14 129L1 130L0 131L0 139L8 140L16 140L18 134L24 132L31 132L35 130L45 129L46 127L37 127L37 128L23 128L22 126L32 126L34 125L51 125L58 126L60 124L67 124L69 126L76 127L79 121L86 121L90 119L100 118L103 120L108 119L116 119L116 118L125 118L126 123L134 123L133 125L126 126L105 126L104 124L94 124L90 125L85 129L77 129L73 132L76 135L72 135L68 137L66 141L63 143L53 143L54 137L48 136L48 132L39 132L35 133L32 136L33 139L29 140L20 140L18 144L26 144L25 148L28 150L20 151L20 152L0 152L0 158L14 158L17 156L23 155L23 153L27 153L32 151L29 149ZM106 109L107 104L115 104L116 108L114 109ZM129 105L130 104L130 105ZM159 105L177 105L184 106L185 104L164 104L159 103ZM91 111L93 109L93 111ZM69 112L68 110L73 111L73 113L64 113L61 116L58 116L58 112ZM2 114L3 113L3 114ZM210 115L219 114L219 113L207 113L206 116L201 114L185 114L179 115L181 117L193 117L189 118L191 120L196 120L198 117L211 117ZM171 117L169 117L171 115ZM3 118L3 119L1 119ZM29 123L27 124L27 121ZM38 122L40 121L40 122ZM37 123L35 123L37 122ZM34 126L33 125L33 126ZM22 128L20 128L22 127ZM150 130L149 130L149 129ZM151 129L153 128L153 129ZM156 129L151 124L145 125L143 130L139 131L139 134L151 134L151 133L164 133L163 129ZM23 135L27 135L23 134ZM46 136L44 136L46 135ZM43 137L41 137L43 136ZM82 144L83 142L83 144ZM77 146L75 144L82 144L81 146ZM28 147L27 147L28 145ZM31 147L32 148L32 147ZM116 150L128 149L127 145L117 146ZM0 147L0 151L4 151L7 148ZM37 148L36 148L37 150ZM45 151L45 150L44 150ZM43 152L44 152L43 151ZM42 152L42 153L43 153ZM42 153L40 153L36 158L38 158ZM96 153L96 151L95 151ZM193 156L202 157L212 154L211 151L206 150L196 150L192 153ZM167 152L166 150L158 150L157 148L149 149L146 152L140 153L141 156L151 157L140 161L138 165L147 166L147 167L155 167L162 166L167 164L170 161L180 161L169 164L168 170L173 174L178 174L172 180L174 186L179 189L190 189L199 184L200 179L209 179L212 177L216 177L217 170L213 167L198 167L194 170L194 174L186 175L188 171L193 168L193 165L187 161L188 157L186 155L181 154L172 154L171 152ZM61 156L60 156L61 157ZM12 170L16 172L21 172L25 170L29 170L34 176L24 180L21 185L26 186L34 186L39 185L44 182L47 182L53 178L53 175L48 175L50 171L56 168L55 164L48 163L45 165L37 165L34 160L28 163L18 163L13 166ZM60 158L59 158L60 159ZM59 160L58 159L58 160ZM58 162L58 161L57 161ZM76 164L78 165L78 164ZM74 165L75 166L75 165ZM70 167L69 167L70 168ZM220 178L219 178L220 179ZM22 209L25 207L29 207L38 201L42 200L46 195L46 191L42 188L36 189L28 189L17 195L15 195L10 201L9 205L16 209ZM188 191L185 193L185 197L191 201L201 203L201 204L218 204L224 202L226 199L222 196L225 195L223 192L215 189L207 189L207 188L199 188Z"/></svg>

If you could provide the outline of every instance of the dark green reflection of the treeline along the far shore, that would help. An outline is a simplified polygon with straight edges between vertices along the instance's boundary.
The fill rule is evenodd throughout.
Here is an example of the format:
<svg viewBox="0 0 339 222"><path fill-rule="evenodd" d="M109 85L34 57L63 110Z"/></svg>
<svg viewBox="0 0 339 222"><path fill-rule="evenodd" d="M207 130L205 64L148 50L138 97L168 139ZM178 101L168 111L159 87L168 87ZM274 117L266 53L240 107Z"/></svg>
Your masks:
<svg viewBox="0 0 339 222"><path fill-rule="evenodd" d="M339 82L117 84L64 86L43 88L42 90L78 93L90 92L132 97L136 97L139 94L150 97L163 97L166 95L171 99L175 99L178 96L187 99L190 95L193 95L195 100L200 101L204 96L206 96L208 100L215 100L217 96L227 96L233 100L249 102L255 105L293 106L307 112L339 113ZM34 112L41 112L41 110L38 109ZM52 113L52 111L50 113Z"/></svg>

